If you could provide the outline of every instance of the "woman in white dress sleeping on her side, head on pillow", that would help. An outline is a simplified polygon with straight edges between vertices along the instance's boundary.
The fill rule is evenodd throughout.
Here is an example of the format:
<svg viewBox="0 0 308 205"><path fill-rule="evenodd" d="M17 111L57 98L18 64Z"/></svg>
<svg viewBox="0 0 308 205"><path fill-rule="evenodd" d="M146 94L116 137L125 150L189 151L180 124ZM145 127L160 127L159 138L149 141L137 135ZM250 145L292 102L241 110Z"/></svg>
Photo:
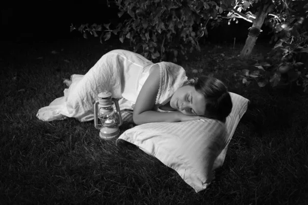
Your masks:
<svg viewBox="0 0 308 205"><path fill-rule="evenodd" d="M102 91L120 98L120 110L133 110L137 125L212 118L225 122L232 110L226 86L217 78L187 79L174 63L153 64L140 54L113 50L103 55L85 75L64 82L64 96L37 112L41 120L73 117L93 120L93 102Z"/></svg>

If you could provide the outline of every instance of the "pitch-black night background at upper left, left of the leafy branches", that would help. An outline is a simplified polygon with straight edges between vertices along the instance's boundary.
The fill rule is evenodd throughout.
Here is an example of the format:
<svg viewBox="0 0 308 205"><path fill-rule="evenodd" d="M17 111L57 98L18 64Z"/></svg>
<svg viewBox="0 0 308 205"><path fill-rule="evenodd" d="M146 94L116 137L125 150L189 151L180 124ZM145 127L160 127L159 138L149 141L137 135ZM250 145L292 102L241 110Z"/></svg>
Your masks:
<svg viewBox="0 0 308 205"><path fill-rule="evenodd" d="M2 40L68 38L80 34L69 32L71 23L108 23L118 16L117 8L108 8L105 0L76 2L49 0L4 5L1 8Z"/></svg>

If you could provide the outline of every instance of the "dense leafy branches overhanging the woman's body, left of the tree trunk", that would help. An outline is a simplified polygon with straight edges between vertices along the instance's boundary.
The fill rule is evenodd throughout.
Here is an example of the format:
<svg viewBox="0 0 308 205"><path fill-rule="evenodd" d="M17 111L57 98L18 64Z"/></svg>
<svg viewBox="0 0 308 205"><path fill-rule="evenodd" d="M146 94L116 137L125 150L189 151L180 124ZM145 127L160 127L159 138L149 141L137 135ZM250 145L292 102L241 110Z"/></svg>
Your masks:
<svg viewBox="0 0 308 205"><path fill-rule="evenodd" d="M200 51L199 39L207 35L209 19L216 19L224 9L230 8L232 1L196 0L118 0L113 3L119 7L119 17L124 18L118 25L81 25L79 31L84 37L87 33L108 40L111 34L119 36L123 43L128 39L134 52L148 59L177 62L179 57L187 59L187 53ZM108 2L109 3L109 2ZM75 28L72 26L71 30Z"/></svg>

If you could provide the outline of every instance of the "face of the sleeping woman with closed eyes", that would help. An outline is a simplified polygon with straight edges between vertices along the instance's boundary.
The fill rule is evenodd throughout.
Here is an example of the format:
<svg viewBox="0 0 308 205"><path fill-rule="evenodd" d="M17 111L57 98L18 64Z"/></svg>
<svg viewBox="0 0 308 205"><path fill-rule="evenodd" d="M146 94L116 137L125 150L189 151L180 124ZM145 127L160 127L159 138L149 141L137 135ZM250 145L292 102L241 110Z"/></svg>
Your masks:
<svg viewBox="0 0 308 205"><path fill-rule="evenodd" d="M172 95L170 106L185 115L204 115L205 98L194 86L186 85Z"/></svg>

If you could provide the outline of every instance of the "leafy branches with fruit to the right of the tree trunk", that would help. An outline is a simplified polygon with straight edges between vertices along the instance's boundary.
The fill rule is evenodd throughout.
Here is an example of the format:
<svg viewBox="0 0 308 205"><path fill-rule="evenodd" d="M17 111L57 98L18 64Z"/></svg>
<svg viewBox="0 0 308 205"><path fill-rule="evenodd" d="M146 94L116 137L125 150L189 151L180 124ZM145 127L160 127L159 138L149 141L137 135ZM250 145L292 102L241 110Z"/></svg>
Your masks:
<svg viewBox="0 0 308 205"><path fill-rule="evenodd" d="M308 32L303 24L308 15L308 4L299 8L295 2L291 1L274 3L275 14L269 14L266 25L272 28L273 36L270 43L275 43L275 46L268 53L265 61L255 65L257 70L242 71L242 83L247 85L255 79L259 87L267 84L275 87L290 85L296 81L296 84L301 85L306 92L308 91L308 73L304 56L308 53ZM241 4L239 8L243 5L245 4Z"/></svg>

